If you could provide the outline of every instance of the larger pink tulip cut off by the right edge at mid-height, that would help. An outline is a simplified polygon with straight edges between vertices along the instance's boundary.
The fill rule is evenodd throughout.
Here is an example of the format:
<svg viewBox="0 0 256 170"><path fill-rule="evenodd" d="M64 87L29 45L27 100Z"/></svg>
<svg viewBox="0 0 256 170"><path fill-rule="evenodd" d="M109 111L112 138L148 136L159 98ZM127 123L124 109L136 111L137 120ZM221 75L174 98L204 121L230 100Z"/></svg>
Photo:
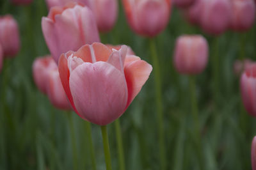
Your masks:
<svg viewBox="0 0 256 170"><path fill-rule="evenodd" d="M246 111L256 117L256 64L247 68L242 74L240 89Z"/></svg>

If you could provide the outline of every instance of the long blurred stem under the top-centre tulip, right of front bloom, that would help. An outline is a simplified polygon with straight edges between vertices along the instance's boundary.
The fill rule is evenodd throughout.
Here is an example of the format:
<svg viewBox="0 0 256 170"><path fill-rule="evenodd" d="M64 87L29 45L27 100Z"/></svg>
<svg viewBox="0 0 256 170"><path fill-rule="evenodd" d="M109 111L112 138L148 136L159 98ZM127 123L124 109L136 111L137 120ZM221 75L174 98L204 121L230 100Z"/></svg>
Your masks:
<svg viewBox="0 0 256 170"><path fill-rule="evenodd" d="M158 122L158 134L159 134L159 154L161 161L161 169L166 169L166 154L164 146L164 123L163 123L163 102L162 102L162 89L161 89L161 73L159 68L159 61L157 58L156 43L154 39L150 39L150 50L153 62L153 72L155 79L155 95L157 104L157 122Z"/></svg>

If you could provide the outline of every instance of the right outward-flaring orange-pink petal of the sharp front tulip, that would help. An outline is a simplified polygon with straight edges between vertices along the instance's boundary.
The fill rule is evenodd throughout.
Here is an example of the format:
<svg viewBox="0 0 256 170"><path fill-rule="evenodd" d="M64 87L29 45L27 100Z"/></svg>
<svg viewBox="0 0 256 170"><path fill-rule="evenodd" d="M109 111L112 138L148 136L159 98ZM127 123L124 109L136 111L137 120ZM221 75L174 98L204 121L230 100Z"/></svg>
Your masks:
<svg viewBox="0 0 256 170"><path fill-rule="evenodd" d="M128 88L128 101L126 108L131 104L136 95L138 95L151 71L152 66L143 60L133 61L125 65L124 73Z"/></svg>

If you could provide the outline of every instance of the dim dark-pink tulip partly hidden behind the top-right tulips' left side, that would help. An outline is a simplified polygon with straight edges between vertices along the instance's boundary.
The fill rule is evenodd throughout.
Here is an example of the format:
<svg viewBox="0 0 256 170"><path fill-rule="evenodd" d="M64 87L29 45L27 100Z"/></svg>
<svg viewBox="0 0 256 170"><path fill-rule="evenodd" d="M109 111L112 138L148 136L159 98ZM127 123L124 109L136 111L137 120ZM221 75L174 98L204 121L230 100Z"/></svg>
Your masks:
<svg viewBox="0 0 256 170"><path fill-rule="evenodd" d="M202 1L196 0L191 6L184 10L185 17L191 24L200 24L200 15L202 12Z"/></svg>

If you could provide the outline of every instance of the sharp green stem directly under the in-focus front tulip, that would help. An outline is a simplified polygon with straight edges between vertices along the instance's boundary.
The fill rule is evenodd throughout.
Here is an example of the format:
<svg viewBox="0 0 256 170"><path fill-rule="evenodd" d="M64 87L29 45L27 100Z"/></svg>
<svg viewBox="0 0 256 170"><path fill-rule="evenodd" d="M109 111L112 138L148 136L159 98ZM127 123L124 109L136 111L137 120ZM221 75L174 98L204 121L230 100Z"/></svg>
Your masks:
<svg viewBox="0 0 256 170"><path fill-rule="evenodd" d="M106 162L106 170L111 170L111 157L109 151L109 143L108 143L108 130L106 126L101 126L101 134L104 146L104 154L105 154L105 162Z"/></svg>

